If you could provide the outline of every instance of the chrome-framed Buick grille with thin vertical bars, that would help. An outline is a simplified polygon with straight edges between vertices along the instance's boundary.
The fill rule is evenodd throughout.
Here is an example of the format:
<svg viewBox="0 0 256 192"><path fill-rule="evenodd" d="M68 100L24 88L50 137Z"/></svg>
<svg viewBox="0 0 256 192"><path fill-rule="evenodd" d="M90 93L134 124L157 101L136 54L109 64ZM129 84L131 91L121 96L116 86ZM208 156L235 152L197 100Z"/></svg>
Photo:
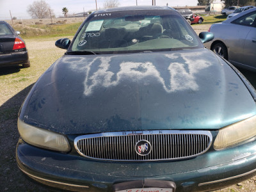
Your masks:
<svg viewBox="0 0 256 192"><path fill-rule="evenodd" d="M140 140L151 144L152 150L147 156L135 151ZM209 131L105 132L78 136L74 141L81 156L114 161L185 159L203 154L211 143Z"/></svg>

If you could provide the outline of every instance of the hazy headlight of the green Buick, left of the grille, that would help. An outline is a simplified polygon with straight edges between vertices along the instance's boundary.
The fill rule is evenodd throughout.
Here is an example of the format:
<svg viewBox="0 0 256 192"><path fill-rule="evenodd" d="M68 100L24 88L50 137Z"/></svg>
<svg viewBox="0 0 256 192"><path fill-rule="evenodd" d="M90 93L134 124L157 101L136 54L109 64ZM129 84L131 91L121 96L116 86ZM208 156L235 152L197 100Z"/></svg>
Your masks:
<svg viewBox="0 0 256 192"><path fill-rule="evenodd" d="M67 138L62 134L25 124L19 118L18 130L22 140L26 141L26 143L59 152L70 151Z"/></svg>

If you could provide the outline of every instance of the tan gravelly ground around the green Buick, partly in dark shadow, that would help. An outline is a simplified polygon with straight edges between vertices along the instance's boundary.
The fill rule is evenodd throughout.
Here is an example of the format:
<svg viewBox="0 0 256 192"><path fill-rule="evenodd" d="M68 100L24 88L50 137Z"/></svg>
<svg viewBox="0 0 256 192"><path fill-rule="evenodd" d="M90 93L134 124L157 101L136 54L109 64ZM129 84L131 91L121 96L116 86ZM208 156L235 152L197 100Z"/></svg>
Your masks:
<svg viewBox="0 0 256 192"><path fill-rule="evenodd" d="M209 25L196 25L193 28L195 28L196 33L200 33L200 31L207 31ZM22 101L36 79L65 52L54 46L56 40L58 40L58 37L26 40L31 67L0 68L0 191L52 190L32 182L20 172L15 160L15 146L19 139L17 113ZM21 78L20 76L23 74L24 77ZM253 75L249 74L249 76L252 76L250 78L254 78ZM256 191L256 177L218 190L218 192L227 191Z"/></svg>

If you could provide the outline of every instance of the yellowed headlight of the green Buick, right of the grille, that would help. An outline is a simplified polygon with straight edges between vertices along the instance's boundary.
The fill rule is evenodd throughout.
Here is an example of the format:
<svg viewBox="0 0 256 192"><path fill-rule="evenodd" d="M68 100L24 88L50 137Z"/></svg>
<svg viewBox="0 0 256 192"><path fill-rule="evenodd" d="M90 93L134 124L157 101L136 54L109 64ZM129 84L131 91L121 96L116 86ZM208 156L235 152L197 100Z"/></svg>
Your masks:
<svg viewBox="0 0 256 192"><path fill-rule="evenodd" d="M213 147L216 150L231 147L256 136L256 116L252 116L237 122L236 124L228 125L220 129Z"/></svg>

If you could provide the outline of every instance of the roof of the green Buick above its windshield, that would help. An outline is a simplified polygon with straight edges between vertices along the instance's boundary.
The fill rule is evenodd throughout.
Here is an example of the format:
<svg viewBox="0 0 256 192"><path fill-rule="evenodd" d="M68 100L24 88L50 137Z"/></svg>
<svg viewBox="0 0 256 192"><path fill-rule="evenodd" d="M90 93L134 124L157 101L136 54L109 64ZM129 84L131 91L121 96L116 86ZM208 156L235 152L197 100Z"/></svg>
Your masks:
<svg viewBox="0 0 256 192"><path fill-rule="evenodd" d="M93 13L99 14L99 13L136 11L136 10L170 10L175 12L175 10L173 10L168 6L122 6L122 7L116 7L116 8L106 8L104 10L97 10Z"/></svg>

